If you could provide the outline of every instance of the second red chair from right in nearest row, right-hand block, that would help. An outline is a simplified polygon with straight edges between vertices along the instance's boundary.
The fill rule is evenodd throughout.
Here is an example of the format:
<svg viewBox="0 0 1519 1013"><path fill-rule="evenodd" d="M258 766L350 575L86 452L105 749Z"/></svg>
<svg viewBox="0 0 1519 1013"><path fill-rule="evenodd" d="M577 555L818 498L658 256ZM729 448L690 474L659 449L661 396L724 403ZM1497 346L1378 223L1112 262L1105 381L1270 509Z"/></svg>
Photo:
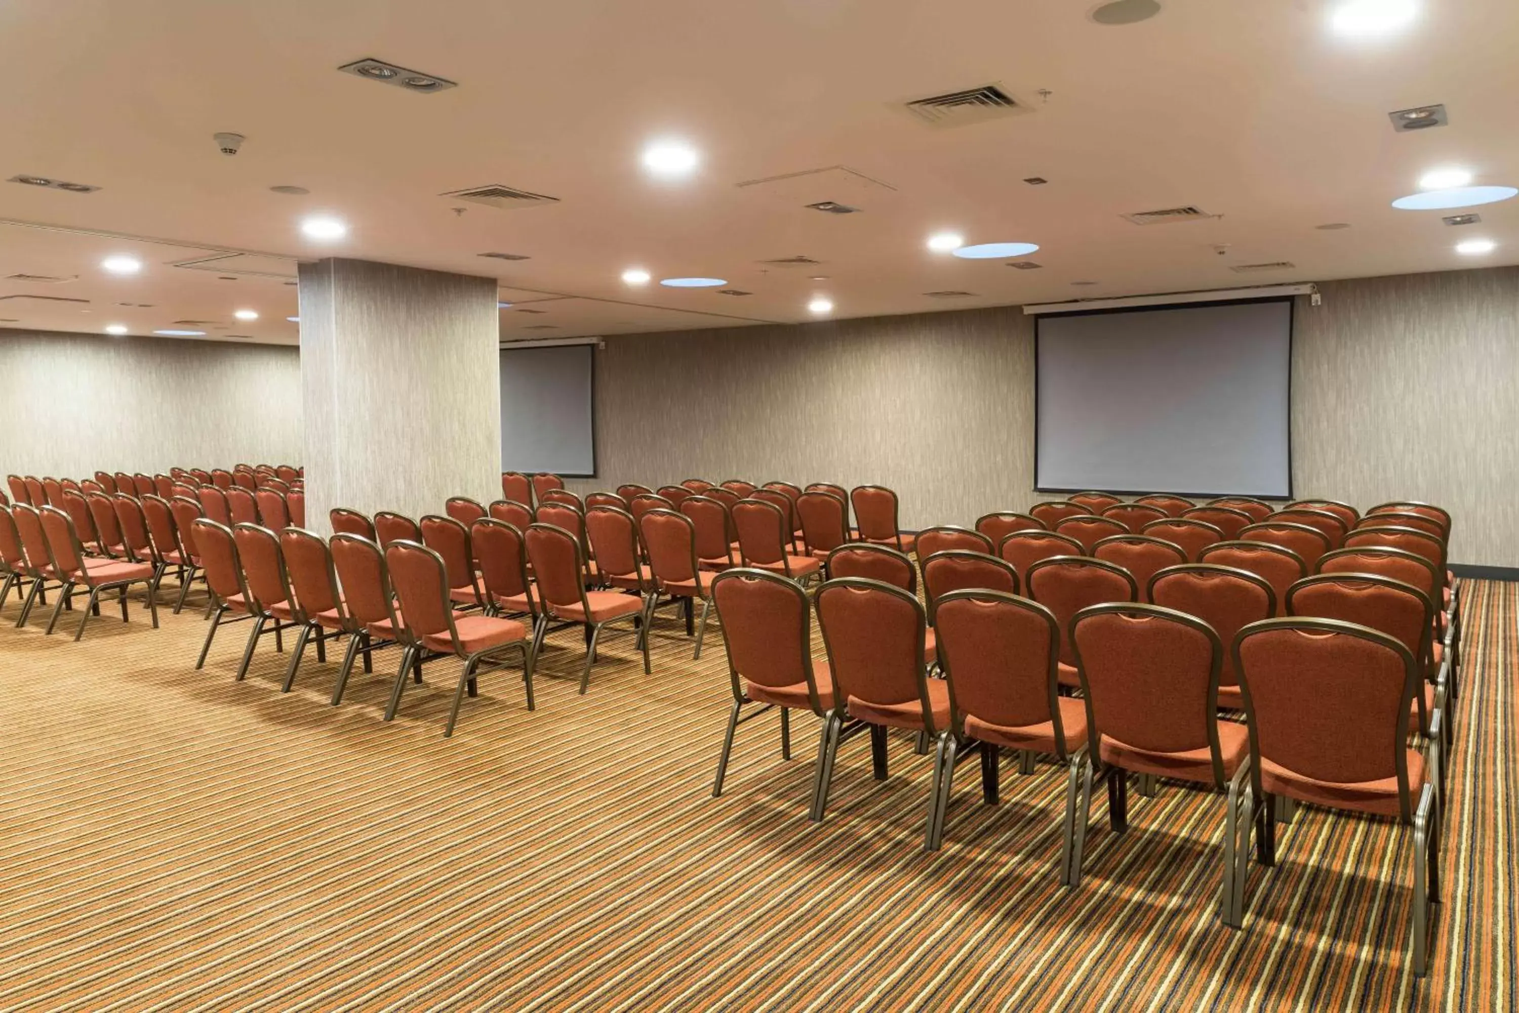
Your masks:
<svg viewBox="0 0 1519 1013"><path fill-rule="evenodd" d="M1106 775L1115 834L1129 828L1130 773L1188 781L1226 793L1218 914L1236 925L1235 847L1238 825L1249 816L1250 738L1243 724L1218 720L1224 653L1218 633L1195 617L1153 604L1097 604L1075 615L1071 639L1086 699L1088 750L1071 767L1066 790L1062 881L1082 885L1097 764Z"/></svg>

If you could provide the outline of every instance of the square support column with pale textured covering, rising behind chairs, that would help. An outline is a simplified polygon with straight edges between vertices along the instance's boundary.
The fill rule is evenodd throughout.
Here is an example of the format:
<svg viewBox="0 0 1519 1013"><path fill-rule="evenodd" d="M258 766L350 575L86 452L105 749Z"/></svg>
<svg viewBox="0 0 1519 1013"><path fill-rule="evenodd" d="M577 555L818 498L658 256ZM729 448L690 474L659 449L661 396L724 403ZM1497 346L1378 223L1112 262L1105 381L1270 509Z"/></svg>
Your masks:
<svg viewBox="0 0 1519 1013"><path fill-rule="evenodd" d="M494 278L363 260L301 264L308 527L327 512L442 513L500 498Z"/></svg>

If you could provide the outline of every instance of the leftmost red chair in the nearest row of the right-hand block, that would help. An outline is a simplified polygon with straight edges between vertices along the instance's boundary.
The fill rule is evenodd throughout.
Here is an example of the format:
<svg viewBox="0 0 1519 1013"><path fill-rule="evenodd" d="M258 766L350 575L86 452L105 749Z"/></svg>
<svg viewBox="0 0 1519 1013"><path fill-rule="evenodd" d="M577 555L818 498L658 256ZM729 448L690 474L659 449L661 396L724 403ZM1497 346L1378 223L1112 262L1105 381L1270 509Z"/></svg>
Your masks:
<svg viewBox="0 0 1519 1013"><path fill-rule="evenodd" d="M734 694L712 782L715 799L723 794L728 758L740 724L772 708L779 709L781 759L790 759L791 711L811 711L826 724L838 702L828 665L813 661L813 606L794 582L764 570L726 570L712 577L711 598L723 627L728 682ZM760 706L746 714L744 708L750 703ZM822 750L813 770L810 809L817 802L820 768Z"/></svg>

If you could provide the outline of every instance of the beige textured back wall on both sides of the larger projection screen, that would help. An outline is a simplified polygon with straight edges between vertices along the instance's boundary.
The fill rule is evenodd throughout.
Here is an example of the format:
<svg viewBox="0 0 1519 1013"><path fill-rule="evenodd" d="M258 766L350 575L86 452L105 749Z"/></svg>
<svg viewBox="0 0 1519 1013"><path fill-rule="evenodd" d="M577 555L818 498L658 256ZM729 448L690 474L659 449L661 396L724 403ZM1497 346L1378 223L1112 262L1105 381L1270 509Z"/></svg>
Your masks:
<svg viewBox="0 0 1519 1013"><path fill-rule="evenodd" d="M1452 559L1519 566L1519 269L1340 281L1302 298L1293 484L1455 515ZM614 337L580 491L700 475L898 491L971 524L1033 492L1033 320L1018 308Z"/></svg>

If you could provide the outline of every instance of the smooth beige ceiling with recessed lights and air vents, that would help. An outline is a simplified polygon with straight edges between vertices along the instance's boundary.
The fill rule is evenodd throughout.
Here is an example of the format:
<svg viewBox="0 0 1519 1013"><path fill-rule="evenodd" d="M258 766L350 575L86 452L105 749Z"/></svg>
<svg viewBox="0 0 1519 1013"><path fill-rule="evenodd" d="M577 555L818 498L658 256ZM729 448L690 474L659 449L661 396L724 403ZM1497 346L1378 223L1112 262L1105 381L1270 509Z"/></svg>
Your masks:
<svg viewBox="0 0 1519 1013"><path fill-rule="evenodd" d="M328 255L495 276L507 340L801 322L814 296L858 317L1519 263L1519 200L1460 228L1390 207L1440 166L1519 185L1519 5L1420 0L1410 30L1349 39L1337 2L1162 0L1129 26L1089 0L0 5L0 179L99 187L0 182L0 328L296 343L287 282ZM337 71L371 56L457 87ZM990 84L1025 111L902 108ZM1391 129L1431 103L1448 126ZM667 137L702 153L691 178L639 164ZM441 196L486 184L557 202ZM1121 217L1179 205L1206 216ZM317 211L348 237L305 238ZM1039 243L1041 267L930 252L940 229ZM1454 252L1475 235L1498 249ZM122 252L144 270L100 270ZM819 263L764 263L793 257ZM629 287L635 266L749 295Z"/></svg>

